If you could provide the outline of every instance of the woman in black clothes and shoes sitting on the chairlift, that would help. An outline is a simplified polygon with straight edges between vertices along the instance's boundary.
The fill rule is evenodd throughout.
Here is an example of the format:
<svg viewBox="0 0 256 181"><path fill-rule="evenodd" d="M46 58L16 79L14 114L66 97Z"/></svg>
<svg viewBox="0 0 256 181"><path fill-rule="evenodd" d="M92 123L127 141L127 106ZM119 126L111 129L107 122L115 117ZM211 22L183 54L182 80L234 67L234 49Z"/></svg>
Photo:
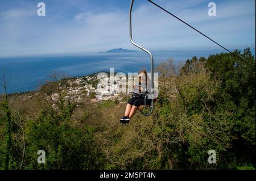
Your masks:
<svg viewBox="0 0 256 181"><path fill-rule="evenodd" d="M146 82L143 82L146 81ZM129 123L131 117L133 117L133 115L136 113L136 111L138 110L138 107L141 105L144 105L144 97L146 96L146 94L148 94L147 91L147 87L150 87L147 85L148 81L147 79L147 71L146 70L142 70L139 73L139 85L146 85L146 86L139 86L138 90L139 92L142 92L144 94L133 94L133 97L128 100L127 102L127 106L126 106L126 110L125 110L125 115L120 119L121 123ZM151 99L146 98L146 105L151 105Z"/></svg>

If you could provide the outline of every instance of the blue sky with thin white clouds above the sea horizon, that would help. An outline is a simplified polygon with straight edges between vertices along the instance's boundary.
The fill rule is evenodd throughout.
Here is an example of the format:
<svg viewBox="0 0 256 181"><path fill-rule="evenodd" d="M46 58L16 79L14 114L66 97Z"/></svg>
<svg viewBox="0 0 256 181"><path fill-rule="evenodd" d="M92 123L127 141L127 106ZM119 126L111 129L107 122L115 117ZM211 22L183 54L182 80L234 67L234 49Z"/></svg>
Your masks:
<svg viewBox="0 0 256 181"><path fill-rule="evenodd" d="M46 4L38 16L37 4ZM255 48L255 1L154 0L218 43ZM208 3L217 16L208 16ZM136 49L129 40L130 0L0 0L0 57ZM219 49L146 0L135 0L133 37L150 50Z"/></svg>

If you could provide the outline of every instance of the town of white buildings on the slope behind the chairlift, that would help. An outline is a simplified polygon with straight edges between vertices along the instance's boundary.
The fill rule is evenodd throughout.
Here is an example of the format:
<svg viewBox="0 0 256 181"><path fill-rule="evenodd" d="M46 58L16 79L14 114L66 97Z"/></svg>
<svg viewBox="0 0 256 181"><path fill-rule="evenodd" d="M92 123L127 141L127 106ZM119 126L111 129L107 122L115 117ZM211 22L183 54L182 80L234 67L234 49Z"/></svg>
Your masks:
<svg viewBox="0 0 256 181"><path fill-rule="evenodd" d="M83 77L60 79L59 81L55 82L59 86L59 91L52 91L51 94L47 94L43 88L44 86L47 87L47 85L50 85L51 82L42 86L40 90L44 92L46 100L53 100L53 102L57 102L59 98L59 92L65 92L64 99L73 100L76 103L83 103L85 101L89 101L90 103L97 103L104 102L106 100L118 100L119 102L122 102L123 98L127 98L126 87L129 87L127 85L133 85L133 79L129 78L128 81L126 81L127 75L121 78L111 76L109 77L109 75L106 73L94 73ZM123 86L124 83L125 85ZM123 91L121 91L122 86L125 87L123 88ZM155 87L158 87L158 85L155 85ZM130 91L130 88L128 90ZM176 87L170 87L170 92L172 92L170 97L173 98L177 92ZM30 99L32 96L36 96L38 94L38 91L34 91L27 96L19 96L25 100ZM54 103L53 106L55 106Z"/></svg>

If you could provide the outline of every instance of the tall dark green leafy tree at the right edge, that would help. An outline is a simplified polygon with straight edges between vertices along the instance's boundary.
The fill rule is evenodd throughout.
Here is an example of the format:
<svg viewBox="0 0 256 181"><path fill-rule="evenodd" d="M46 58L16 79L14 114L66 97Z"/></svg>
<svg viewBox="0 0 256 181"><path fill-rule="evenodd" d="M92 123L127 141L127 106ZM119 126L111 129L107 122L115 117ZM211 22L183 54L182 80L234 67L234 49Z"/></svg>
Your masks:
<svg viewBox="0 0 256 181"><path fill-rule="evenodd" d="M218 112L226 115L232 129L232 145L241 162L255 159L255 58L246 48L241 53L209 56L207 68L221 81L218 91ZM255 163L254 163L255 167Z"/></svg>

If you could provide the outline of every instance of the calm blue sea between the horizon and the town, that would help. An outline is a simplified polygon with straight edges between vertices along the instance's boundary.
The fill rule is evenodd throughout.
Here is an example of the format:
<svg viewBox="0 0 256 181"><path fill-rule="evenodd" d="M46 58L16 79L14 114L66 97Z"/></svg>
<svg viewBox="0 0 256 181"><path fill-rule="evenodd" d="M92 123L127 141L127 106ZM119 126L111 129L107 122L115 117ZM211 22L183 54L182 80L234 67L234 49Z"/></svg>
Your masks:
<svg viewBox="0 0 256 181"><path fill-rule="evenodd" d="M222 50L190 50L153 52L155 66L173 58L175 64L184 63L193 56L208 57ZM255 49L252 49L255 56ZM36 90L53 72L67 74L70 77L88 75L99 71L135 72L139 69L150 70L150 59L146 53L97 53L77 56L37 56L0 58L0 75L5 71L7 91L24 92ZM0 93L3 93L1 87Z"/></svg>

